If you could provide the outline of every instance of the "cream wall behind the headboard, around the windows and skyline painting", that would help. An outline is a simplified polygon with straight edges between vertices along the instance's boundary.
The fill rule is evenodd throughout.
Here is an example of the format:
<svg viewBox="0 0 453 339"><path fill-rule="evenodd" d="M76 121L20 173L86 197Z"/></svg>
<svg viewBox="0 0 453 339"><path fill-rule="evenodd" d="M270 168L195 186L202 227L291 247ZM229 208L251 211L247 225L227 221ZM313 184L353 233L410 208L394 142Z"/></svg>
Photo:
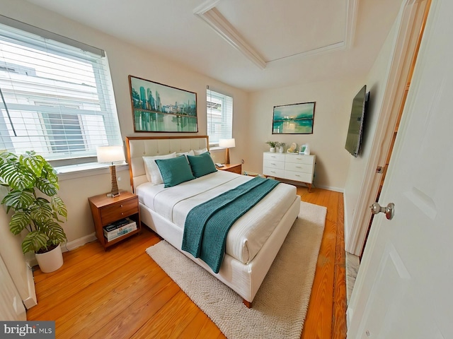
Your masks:
<svg viewBox="0 0 453 339"><path fill-rule="evenodd" d="M203 76L200 73L190 71L185 66L159 57L159 55L151 51L139 49L117 40L115 37L105 35L103 32L93 30L23 0L0 0L0 13L9 18L20 20L105 50L110 64L123 139L126 136L133 135L152 135L152 133L134 133L130 89L127 78L129 75L139 76L140 78L197 93L198 134L200 135L205 135L206 133L206 86L210 85L211 88L232 95L234 97L234 137L236 138L236 148L231 150L231 162L238 162L243 157L242 148L246 145L246 131L248 129L248 125L243 122L246 121L248 93L243 90L219 83L219 81ZM159 133L159 136L162 135L165 134ZM122 178L118 183L120 189L130 190L128 172L120 172L118 176ZM84 237L88 239L93 234L93 220L87 199L89 196L103 194L108 191L110 191L108 169L88 173L84 177L69 174L60 177L59 195L68 207L68 222L64 225L64 230L67 233L69 244L75 246L75 244L79 244L77 239ZM4 260L8 261L8 258L4 257Z"/></svg>

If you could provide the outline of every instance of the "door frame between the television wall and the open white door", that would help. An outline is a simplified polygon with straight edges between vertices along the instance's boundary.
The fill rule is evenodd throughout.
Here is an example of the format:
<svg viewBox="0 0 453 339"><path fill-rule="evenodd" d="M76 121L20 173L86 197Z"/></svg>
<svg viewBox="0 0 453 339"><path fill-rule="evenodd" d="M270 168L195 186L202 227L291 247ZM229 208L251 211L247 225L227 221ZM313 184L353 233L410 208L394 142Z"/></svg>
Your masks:
<svg viewBox="0 0 453 339"><path fill-rule="evenodd" d="M382 175L376 173L377 167L386 166L386 159L391 150L391 141L406 101L406 88L412 75L412 65L420 44L420 32L424 27L425 11L431 0L405 0L401 5L396 25L398 30L394 38L393 53L389 60L389 76L385 84L382 108L379 112L376 133L372 143L369 160L365 169L365 178L357 200L357 214L352 220L351 231L346 240L345 251L360 256L371 212L369 206L376 201Z"/></svg>

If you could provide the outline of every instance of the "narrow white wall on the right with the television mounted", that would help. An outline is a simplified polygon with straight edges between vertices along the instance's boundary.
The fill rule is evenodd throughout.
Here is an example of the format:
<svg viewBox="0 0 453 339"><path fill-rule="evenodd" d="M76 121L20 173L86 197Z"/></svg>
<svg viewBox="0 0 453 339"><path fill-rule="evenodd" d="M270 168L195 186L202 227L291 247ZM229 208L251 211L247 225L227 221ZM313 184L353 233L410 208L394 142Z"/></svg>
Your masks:
<svg viewBox="0 0 453 339"><path fill-rule="evenodd" d="M394 51L394 38L396 25L389 32L379 56L369 71L366 85L370 93L370 101L365 117L365 129L363 131L362 151L357 158L352 158L346 179L344 200L345 200L345 246L348 248L348 240L351 227L355 222L357 201L364 186L364 177L369 162L370 151L377 128L377 121L382 109L382 100L389 78L391 66L391 54Z"/></svg>

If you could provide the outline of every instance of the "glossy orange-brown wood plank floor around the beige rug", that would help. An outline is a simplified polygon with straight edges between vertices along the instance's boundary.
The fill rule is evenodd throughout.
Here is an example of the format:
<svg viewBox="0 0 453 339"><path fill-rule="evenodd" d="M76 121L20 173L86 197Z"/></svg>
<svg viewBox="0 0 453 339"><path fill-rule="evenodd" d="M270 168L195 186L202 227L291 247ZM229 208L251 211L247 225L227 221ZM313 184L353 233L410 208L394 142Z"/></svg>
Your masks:
<svg viewBox="0 0 453 339"><path fill-rule="evenodd" d="M327 207L302 338L346 338L343 194L305 187L298 194ZM28 320L55 320L57 338L224 338L145 253L159 240L144 227L109 251L93 242L64 253L54 273L37 269L38 306Z"/></svg>

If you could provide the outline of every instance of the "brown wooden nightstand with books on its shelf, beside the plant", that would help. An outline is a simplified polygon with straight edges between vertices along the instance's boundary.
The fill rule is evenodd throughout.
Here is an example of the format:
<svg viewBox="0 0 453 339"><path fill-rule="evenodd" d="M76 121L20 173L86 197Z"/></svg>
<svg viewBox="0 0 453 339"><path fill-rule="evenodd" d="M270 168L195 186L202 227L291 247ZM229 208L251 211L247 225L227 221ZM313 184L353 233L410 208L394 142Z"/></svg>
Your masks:
<svg viewBox="0 0 453 339"><path fill-rule="evenodd" d="M93 215L96 237L104 249L140 232L139 198L135 194L127 191L122 191L115 197L100 194L88 198L88 203ZM108 234L113 230L116 230L116 236L113 233ZM107 234L104 234L104 231Z"/></svg>

